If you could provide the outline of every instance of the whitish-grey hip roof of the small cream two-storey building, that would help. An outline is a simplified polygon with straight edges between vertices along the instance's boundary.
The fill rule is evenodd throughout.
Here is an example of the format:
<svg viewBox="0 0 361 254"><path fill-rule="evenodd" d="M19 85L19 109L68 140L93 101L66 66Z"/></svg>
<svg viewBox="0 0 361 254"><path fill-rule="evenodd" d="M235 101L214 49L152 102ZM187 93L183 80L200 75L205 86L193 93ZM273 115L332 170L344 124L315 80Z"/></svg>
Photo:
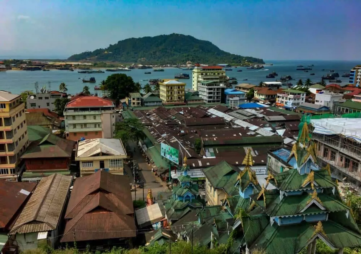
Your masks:
<svg viewBox="0 0 361 254"><path fill-rule="evenodd" d="M99 153L116 156L127 155L120 139L86 139L78 142L76 157L86 158Z"/></svg>

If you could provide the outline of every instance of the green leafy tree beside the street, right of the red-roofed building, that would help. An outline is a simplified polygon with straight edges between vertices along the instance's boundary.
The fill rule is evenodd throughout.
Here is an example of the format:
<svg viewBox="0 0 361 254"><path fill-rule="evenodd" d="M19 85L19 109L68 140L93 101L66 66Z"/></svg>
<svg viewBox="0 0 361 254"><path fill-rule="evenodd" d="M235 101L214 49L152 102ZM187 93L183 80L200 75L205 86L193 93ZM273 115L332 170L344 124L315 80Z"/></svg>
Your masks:
<svg viewBox="0 0 361 254"><path fill-rule="evenodd" d="M125 145L129 140L138 141L146 137L143 132L144 126L137 118L127 118L122 122L117 122L115 130L116 137L121 139Z"/></svg>

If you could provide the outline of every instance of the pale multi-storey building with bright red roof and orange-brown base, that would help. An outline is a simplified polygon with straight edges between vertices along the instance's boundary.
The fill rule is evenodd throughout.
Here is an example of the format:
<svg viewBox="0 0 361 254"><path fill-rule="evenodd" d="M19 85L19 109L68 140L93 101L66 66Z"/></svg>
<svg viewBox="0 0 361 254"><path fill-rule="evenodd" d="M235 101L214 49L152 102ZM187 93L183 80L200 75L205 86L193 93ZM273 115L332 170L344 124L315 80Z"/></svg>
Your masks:
<svg viewBox="0 0 361 254"><path fill-rule="evenodd" d="M66 139L112 138L117 115L113 101L96 96L75 96L64 110Z"/></svg>

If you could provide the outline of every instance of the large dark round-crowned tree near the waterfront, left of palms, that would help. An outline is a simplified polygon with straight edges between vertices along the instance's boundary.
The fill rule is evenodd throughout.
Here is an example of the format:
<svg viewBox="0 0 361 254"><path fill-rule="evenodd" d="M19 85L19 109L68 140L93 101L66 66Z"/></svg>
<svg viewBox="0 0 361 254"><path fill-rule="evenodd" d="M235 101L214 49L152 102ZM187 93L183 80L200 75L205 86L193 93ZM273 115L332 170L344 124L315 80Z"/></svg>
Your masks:
<svg viewBox="0 0 361 254"><path fill-rule="evenodd" d="M105 89L108 90L110 98L116 100L116 104L131 92L136 92L135 83L130 76L125 74L112 74L105 80Z"/></svg>

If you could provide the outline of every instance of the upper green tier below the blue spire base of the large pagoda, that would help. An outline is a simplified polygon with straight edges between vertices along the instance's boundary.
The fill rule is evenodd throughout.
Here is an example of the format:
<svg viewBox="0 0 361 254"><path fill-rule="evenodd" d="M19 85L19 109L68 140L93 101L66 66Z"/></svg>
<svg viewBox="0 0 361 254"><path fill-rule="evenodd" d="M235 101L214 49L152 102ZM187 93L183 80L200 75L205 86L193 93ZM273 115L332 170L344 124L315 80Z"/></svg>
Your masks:
<svg viewBox="0 0 361 254"><path fill-rule="evenodd" d="M309 180L313 180L312 183L310 183ZM316 186L316 188L337 187L337 184L331 180L331 176L327 170L313 170L310 174L300 175L297 169L290 169L275 174L274 179L270 179L270 183L280 191L305 189L307 186L312 188L312 185L313 187Z"/></svg>

